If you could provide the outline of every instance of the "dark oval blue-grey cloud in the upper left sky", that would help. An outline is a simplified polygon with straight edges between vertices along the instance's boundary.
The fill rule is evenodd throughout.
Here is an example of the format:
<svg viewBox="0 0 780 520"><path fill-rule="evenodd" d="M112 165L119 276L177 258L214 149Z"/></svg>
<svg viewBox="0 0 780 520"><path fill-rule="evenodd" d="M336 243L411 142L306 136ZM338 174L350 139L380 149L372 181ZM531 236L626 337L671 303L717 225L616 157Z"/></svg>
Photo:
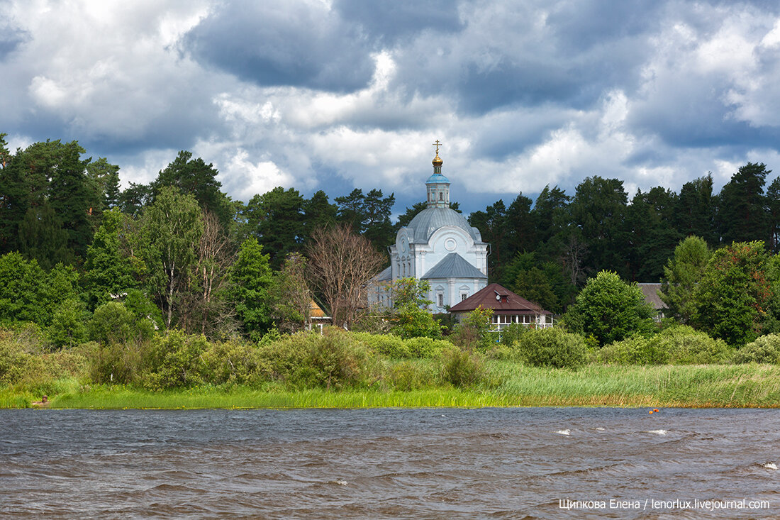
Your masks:
<svg viewBox="0 0 780 520"><path fill-rule="evenodd" d="M261 86L348 92L374 72L371 44L324 6L236 2L202 20L183 39L206 62Z"/></svg>

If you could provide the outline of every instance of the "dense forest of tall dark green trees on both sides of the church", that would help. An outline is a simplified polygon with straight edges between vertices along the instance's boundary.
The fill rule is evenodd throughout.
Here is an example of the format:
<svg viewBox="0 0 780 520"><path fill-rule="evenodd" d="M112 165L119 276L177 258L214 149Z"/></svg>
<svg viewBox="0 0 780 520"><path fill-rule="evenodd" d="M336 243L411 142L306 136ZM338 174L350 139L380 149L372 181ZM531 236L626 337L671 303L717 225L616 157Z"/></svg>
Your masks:
<svg viewBox="0 0 780 520"><path fill-rule="evenodd" d="M233 201L214 166L188 151L151 183L124 190L119 166L87 158L76 141L11 152L0 134L0 155L0 322L38 323L61 346L117 299L159 327L207 335L295 322L308 305L306 253L317 230L350 226L386 255L425 207L393 223L395 197L378 189L331 201L324 191L306 198L277 187ZM686 237L700 237L707 258L756 241L775 258L780 177L769 182L770 173L748 162L717 194L707 175L679 193L654 187L633 198L622 180L590 176L573 194L548 186L535 201L521 193L468 220L491 244L491 281L562 313L602 270L668 282Z"/></svg>

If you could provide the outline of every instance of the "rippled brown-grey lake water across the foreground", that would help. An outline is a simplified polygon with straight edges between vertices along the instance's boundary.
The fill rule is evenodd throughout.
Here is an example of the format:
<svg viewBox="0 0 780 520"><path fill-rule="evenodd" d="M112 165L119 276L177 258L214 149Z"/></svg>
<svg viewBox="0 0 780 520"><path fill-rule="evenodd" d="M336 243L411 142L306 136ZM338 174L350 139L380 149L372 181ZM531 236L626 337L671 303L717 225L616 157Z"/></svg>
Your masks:
<svg viewBox="0 0 780 520"><path fill-rule="evenodd" d="M0 410L0 517L780 518L780 410L647 411Z"/></svg>

